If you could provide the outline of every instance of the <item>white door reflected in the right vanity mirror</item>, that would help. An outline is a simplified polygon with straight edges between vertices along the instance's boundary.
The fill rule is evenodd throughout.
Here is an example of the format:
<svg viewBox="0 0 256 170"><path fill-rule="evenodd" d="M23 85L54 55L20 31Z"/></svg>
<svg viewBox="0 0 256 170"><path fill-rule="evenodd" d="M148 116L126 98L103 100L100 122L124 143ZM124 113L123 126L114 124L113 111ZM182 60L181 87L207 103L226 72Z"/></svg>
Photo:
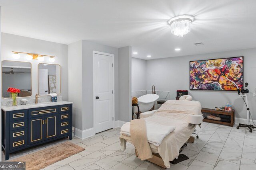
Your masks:
<svg viewBox="0 0 256 170"><path fill-rule="evenodd" d="M38 94L48 94L48 69L38 69Z"/></svg>

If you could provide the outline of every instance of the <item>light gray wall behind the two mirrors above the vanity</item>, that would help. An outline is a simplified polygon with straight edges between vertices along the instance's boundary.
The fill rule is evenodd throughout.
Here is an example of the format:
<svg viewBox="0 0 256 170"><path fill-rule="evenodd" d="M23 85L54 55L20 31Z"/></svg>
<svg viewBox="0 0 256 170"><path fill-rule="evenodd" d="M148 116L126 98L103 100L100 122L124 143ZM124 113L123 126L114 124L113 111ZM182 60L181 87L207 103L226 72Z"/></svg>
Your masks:
<svg viewBox="0 0 256 170"><path fill-rule="evenodd" d="M2 59L11 61L26 61L32 63L32 96L35 98L38 93L38 63L60 64L61 66L61 94L63 100L68 100L68 45L53 43L39 39L22 37L19 35L12 35L2 33ZM12 51L20 51L25 53L34 53L42 55L55 56L55 62L50 63L49 58L45 57L43 62L37 60L26 60L26 55L20 55L20 59L16 60L12 57ZM2 99L8 100L8 99Z"/></svg>

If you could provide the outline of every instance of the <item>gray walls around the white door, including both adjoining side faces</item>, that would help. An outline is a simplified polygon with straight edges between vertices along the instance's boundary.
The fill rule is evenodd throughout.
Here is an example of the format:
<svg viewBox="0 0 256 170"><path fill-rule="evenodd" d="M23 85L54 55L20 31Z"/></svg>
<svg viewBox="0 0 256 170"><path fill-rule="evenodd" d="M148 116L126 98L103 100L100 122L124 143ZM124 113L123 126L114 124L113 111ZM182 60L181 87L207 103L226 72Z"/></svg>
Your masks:
<svg viewBox="0 0 256 170"><path fill-rule="evenodd" d="M68 45L68 99L74 102L75 127L82 131L93 127L93 51L115 56L115 121L130 121L132 117L131 47L118 49L85 40L78 41Z"/></svg>

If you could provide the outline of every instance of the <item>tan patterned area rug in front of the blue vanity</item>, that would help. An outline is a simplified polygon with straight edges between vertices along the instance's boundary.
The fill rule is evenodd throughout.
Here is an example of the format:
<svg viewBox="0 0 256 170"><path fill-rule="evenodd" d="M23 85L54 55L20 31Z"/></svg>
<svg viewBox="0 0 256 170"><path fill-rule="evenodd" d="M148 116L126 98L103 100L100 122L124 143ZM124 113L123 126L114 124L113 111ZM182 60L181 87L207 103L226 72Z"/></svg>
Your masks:
<svg viewBox="0 0 256 170"><path fill-rule="evenodd" d="M78 145L65 142L16 158L12 161L26 162L26 170L40 170L83 150L84 148L79 147Z"/></svg>

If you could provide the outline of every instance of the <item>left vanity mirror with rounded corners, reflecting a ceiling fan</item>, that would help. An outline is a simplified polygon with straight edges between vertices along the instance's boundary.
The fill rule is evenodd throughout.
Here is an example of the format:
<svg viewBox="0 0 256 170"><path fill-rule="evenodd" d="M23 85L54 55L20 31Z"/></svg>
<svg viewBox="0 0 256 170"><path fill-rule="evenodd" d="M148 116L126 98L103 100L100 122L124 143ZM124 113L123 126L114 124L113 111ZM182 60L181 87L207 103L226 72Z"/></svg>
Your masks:
<svg viewBox="0 0 256 170"><path fill-rule="evenodd" d="M32 95L31 63L21 61L2 61L2 97L11 98L9 87L20 89L18 97Z"/></svg>

